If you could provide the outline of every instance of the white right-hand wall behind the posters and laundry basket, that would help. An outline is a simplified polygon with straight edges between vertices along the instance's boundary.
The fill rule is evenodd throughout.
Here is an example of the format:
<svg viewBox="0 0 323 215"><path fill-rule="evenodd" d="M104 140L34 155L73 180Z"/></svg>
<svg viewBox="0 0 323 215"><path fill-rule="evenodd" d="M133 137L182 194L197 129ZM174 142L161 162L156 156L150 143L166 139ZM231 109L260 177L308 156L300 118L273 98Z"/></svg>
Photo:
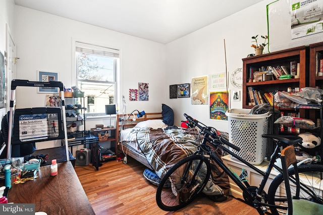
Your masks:
<svg viewBox="0 0 323 215"><path fill-rule="evenodd" d="M194 77L225 73L224 40L230 79L235 69L242 68L241 59L254 53L250 47L251 37L267 35L266 5L271 2L262 1L167 44L166 74L169 78L166 86L191 83ZM229 90L240 90L242 96L242 89L235 88L230 80ZM185 120L183 113L187 113L206 125L228 131L228 121L209 119L209 105L191 105L189 98L166 97L166 103L174 109L176 124ZM242 108L242 101L231 102L231 108Z"/></svg>

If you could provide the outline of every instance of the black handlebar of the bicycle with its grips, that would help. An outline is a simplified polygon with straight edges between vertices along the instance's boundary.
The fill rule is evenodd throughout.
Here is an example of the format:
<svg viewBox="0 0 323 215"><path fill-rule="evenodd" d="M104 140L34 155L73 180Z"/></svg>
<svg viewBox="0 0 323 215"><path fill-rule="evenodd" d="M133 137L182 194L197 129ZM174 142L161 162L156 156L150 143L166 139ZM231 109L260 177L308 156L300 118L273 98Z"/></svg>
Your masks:
<svg viewBox="0 0 323 215"><path fill-rule="evenodd" d="M189 121L189 124L193 124L194 126L198 127L200 129L200 132L202 134L204 134L204 138L207 138L207 140L209 140L210 142L213 142L214 139L211 139L208 136L211 136L212 138L218 137L218 139L222 142L222 144L225 144L225 145L231 147L232 149L236 150L237 152L240 151L239 147L237 147L237 146L231 144L231 142L221 138L221 133L217 129L215 129L213 127L206 127L204 124L203 124L204 126L202 126L201 122L197 121L196 119L193 119L191 116L187 115L186 113L184 113L184 116ZM215 130L216 132L212 132L211 130Z"/></svg>

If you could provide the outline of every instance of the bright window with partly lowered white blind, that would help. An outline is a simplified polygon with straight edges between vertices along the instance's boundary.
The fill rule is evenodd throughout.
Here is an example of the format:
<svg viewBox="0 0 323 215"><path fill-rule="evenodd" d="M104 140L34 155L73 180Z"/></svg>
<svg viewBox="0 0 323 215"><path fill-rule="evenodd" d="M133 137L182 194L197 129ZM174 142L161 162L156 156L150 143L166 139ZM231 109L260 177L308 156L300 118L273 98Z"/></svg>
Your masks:
<svg viewBox="0 0 323 215"><path fill-rule="evenodd" d="M76 83L84 92L86 114L104 115L116 104L119 50L76 42Z"/></svg>

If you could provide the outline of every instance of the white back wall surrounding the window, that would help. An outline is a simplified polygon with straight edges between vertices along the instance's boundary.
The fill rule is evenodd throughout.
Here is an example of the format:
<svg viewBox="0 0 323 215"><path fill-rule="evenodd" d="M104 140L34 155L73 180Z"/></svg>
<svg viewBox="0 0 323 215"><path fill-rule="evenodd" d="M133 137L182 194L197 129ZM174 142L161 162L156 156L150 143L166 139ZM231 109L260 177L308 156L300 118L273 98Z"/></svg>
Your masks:
<svg viewBox="0 0 323 215"><path fill-rule="evenodd" d="M66 87L75 84L72 41L81 40L121 50L121 95L149 83L149 101L127 102L127 111L161 111L165 101L166 47L164 44L16 6L17 79L37 80L37 69L58 73ZM36 89L17 90L17 106L44 105ZM119 95L119 106L121 95ZM31 99L32 98L32 99ZM19 104L18 104L19 102ZM21 106L19 106L21 107Z"/></svg>

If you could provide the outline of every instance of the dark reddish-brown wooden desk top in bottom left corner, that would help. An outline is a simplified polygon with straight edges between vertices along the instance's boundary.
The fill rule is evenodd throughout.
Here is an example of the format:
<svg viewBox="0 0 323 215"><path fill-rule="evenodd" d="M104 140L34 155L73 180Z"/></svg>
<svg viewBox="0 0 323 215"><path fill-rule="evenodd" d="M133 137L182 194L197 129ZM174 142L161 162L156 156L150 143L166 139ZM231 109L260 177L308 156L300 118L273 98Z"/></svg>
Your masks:
<svg viewBox="0 0 323 215"><path fill-rule="evenodd" d="M40 167L37 175L33 181L12 183L8 202L35 203L35 211L48 215L95 214L71 162L59 163L57 176L50 176L50 166Z"/></svg>

